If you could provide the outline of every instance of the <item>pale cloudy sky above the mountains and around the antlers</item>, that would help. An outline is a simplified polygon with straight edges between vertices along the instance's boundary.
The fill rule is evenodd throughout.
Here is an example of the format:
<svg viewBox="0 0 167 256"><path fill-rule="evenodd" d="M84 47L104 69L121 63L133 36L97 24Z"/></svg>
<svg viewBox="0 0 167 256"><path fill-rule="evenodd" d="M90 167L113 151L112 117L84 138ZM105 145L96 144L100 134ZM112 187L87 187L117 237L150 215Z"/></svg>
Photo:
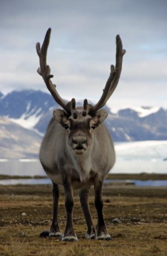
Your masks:
<svg viewBox="0 0 167 256"><path fill-rule="evenodd" d="M47 92L35 44L49 27L47 63L63 98L99 99L119 34L126 54L110 106L167 108L166 0L0 0L2 93Z"/></svg>

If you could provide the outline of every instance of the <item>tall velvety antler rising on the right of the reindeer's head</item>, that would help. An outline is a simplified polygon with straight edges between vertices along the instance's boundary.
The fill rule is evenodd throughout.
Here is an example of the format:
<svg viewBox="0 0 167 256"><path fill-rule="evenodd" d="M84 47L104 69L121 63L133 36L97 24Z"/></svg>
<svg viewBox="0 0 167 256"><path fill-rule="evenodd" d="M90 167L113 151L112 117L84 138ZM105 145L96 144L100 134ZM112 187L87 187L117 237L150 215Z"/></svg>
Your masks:
<svg viewBox="0 0 167 256"><path fill-rule="evenodd" d="M116 45L116 65L115 67L114 65L110 66L110 77L107 80L101 98L99 99L98 103L95 106L93 106L93 111L98 111L106 104L107 100L110 98L110 96L113 94L113 91L117 87L118 81L120 79L123 55L126 51L123 50L122 42L119 35L117 35L116 37Z"/></svg>

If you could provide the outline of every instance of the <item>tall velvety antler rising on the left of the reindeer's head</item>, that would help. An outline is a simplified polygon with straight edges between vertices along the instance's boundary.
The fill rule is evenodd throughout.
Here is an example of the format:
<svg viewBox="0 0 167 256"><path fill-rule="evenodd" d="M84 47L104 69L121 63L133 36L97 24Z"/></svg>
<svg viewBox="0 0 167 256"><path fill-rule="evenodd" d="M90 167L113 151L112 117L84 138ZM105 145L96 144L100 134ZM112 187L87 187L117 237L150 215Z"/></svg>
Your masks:
<svg viewBox="0 0 167 256"><path fill-rule="evenodd" d="M49 28L46 32L44 42L42 47L40 48L40 43L36 44L37 54L39 56L40 67L38 67L38 74L40 74L44 82L47 86L47 89L50 91L51 95L53 96L54 100L68 113L70 114L69 104L67 105L66 102L60 97L55 89L56 85L52 83L50 78L54 77L50 74L50 67L47 65L47 48L49 46L50 41L50 33L51 29Z"/></svg>

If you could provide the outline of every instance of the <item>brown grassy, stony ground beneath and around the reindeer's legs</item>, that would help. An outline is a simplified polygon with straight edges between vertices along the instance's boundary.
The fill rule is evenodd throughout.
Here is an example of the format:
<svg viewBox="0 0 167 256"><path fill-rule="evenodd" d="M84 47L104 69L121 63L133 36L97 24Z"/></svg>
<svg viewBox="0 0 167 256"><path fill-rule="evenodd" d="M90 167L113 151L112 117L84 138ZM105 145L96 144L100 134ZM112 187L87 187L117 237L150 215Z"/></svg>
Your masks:
<svg viewBox="0 0 167 256"><path fill-rule="evenodd" d="M0 256L167 256L167 187L104 184L104 217L113 241L85 240L85 220L74 194L73 222L79 241L40 237L52 218L50 185L0 186ZM94 224L93 189L90 209ZM66 223L63 189L59 221Z"/></svg>

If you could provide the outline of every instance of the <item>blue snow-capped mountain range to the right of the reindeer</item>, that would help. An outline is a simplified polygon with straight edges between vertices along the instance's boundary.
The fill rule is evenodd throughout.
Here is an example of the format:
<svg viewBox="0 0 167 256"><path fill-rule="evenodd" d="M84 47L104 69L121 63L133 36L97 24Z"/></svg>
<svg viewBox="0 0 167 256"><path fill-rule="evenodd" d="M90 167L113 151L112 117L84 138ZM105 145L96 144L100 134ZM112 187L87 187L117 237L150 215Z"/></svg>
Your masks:
<svg viewBox="0 0 167 256"><path fill-rule="evenodd" d="M109 115L106 124L114 141L167 140L167 110L157 108L144 117L140 113L123 109Z"/></svg>

